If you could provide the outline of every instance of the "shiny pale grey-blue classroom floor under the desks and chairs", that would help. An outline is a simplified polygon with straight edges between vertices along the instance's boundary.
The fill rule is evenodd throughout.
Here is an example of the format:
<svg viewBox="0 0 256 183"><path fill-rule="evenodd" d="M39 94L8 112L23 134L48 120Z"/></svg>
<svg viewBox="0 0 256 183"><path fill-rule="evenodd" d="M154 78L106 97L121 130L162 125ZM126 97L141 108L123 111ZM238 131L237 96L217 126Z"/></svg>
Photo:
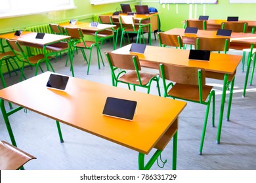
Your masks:
<svg viewBox="0 0 256 183"><path fill-rule="evenodd" d="M153 36L154 37L154 36ZM152 41L158 46L158 41ZM104 50L112 50L112 43L102 45ZM228 54L242 52L232 50ZM104 55L103 55L104 56ZM171 58L170 58L171 59ZM56 73L72 76L69 67L65 67L66 56L53 61ZM87 63L83 60L81 52L75 55L75 77L85 80L111 85L110 68L104 57L105 67L98 69L96 63L96 50L93 50L93 59L90 73L86 74ZM101 65L102 66L102 65ZM256 169L256 88L255 82L247 87L246 97L242 97L245 73L241 71L240 63L234 86L232 110L230 121L226 122L226 107L224 110L221 144L216 144L217 126L219 122L219 108L221 102L222 82L220 80L207 79L207 84L213 85L217 93L215 127L211 127L210 120L207 125L203 155L198 154L202 133L205 106L188 103L179 116L177 169L179 170L255 170ZM146 69L150 70L150 69ZM156 70L150 70L158 72ZM26 77L33 76L34 70L26 68ZM15 84L19 80L20 73L16 76L12 73L5 75L7 86ZM162 86L162 85L161 85ZM125 85L119 87L127 88ZM0 86L0 88L3 88ZM138 90L145 92L144 89ZM161 87L161 92L163 88ZM151 92L157 95L156 88ZM227 94L228 99L228 94ZM152 105L152 104L148 104ZM153 105L152 105L153 107ZM8 106L7 106L8 108ZM61 110L61 108L60 108ZM211 118L211 113L209 114ZM89 133L79 131L68 125L61 124L64 143L60 143L56 124L53 120L36 114L35 112L20 110L10 117L11 126L19 148L32 154L34 159L24 166L25 169L36 170L135 170L138 168L138 153L123 146L100 139ZM0 115L0 139L10 142L7 128ZM154 152L146 156L146 159ZM170 142L161 154L167 163L163 169L171 169L172 142ZM162 165L160 161L160 166ZM157 163L152 169L159 170Z"/></svg>

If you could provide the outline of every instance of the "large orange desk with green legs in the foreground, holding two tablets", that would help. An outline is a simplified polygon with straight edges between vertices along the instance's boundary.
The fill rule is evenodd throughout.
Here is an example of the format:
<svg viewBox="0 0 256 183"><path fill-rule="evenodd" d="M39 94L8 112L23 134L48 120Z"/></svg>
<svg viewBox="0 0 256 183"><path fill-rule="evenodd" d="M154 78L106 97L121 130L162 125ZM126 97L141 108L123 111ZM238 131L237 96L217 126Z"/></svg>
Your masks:
<svg viewBox="0 0 256 183"><path fill-rule="evenodd" d="M51 90L46 87L50 74L46 72L0 90L1 110L14 146L16 141L9 116L22 108L28 108L57 122L139 152L139 169L150 169L173 137L173 169L176 169L178 116L186 102L74 77L69 78L66 92ZM137 101L133 121L103 116L106 97ZM20 107L6 112L4 101ZM61 133L60 137L63 141ZM144 166L144 155L152 148L156 148L156 152Z"/></svg>

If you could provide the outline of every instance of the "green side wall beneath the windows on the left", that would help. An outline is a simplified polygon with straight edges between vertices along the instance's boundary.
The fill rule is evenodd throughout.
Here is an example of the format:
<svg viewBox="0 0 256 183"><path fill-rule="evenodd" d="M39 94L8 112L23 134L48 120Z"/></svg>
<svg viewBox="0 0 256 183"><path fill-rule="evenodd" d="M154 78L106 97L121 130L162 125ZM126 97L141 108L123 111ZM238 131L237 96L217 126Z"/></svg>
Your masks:
<svg viewBox="0 0 256 183"><path fill-rule="evenodd" d="M43 14L18 16L14 18L0 18L0 33L11 32L14 29L25 29L26 27L33 25L49 24L51 22L60 22L62 20L70 19L91 22L93 20L93 14L112 12L115 11L116 8L120 8L119 3L95 6L91 5L89 0L74 0L74 4L77 8L72 10L45 12ZM138 3L131 3L131 7L134 7L135 4Z"/></svg>

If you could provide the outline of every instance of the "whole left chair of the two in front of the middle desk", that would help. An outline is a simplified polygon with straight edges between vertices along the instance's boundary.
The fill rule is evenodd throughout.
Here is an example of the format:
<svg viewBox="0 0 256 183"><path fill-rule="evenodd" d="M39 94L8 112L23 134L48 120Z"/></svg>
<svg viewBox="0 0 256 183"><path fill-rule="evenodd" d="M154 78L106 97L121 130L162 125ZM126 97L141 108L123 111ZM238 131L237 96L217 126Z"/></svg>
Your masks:
<svg viewBox="0 0 256 183"><path fill-rule="evenodd" d="M135 86L140 86L147 88L147 93L150 93L150 86L154 80L158 87L158 95L161 96L158 75L141 71L138 56L114 54L112 52L105 52L105 54L110 65L113 86L117 86L117 83L121 82L128 84L129 90L131 90L131 84L133 90L135 90ZM122 71L116 74L117 69L122 69Z"/></svg>

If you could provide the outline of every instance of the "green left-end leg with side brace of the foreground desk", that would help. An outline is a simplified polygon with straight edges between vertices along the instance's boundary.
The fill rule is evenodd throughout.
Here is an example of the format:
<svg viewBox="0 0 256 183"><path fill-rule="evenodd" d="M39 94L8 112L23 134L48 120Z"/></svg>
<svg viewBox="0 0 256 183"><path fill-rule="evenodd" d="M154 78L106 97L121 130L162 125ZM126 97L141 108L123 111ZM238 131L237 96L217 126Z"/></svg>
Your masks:
<svg viewBox="0 0 256 183"><path fill-rule="evenodd" d="M17 146L14 135L12 133L12 127L11 127L8 116L10 116L14 112L17 112L18 110L22 109L22 107L14 108L13 110L11 110L10 112L7 113L6 110L5 110L5 101L3 99L1 99L1 101L0 101L0 107L1 107L1 111L2 111L2 114L3 114L3 119L5 120L5 125L7 127L12 145Z"/></svg>

